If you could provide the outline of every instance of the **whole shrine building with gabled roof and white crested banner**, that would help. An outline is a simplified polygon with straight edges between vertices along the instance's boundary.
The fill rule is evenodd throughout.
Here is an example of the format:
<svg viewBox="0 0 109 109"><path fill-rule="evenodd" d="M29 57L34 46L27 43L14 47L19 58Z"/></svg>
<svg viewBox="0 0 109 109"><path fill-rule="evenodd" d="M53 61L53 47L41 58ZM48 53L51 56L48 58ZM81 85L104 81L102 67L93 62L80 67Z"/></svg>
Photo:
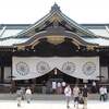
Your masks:
<svg viewBox="0 0 109 109"><path fill-rule="evenodd" d="M72 19L55 3L34 24L0 24L0 92L40 92L50 82L109 84L109 24Z"/></svg>

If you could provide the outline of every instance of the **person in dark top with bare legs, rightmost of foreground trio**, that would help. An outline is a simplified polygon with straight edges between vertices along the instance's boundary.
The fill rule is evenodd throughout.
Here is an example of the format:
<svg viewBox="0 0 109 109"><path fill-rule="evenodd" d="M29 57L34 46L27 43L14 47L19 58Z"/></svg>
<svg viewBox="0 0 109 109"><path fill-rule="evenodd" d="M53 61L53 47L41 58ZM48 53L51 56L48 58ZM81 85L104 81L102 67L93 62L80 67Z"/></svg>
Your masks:
<svg viewBox="0 0 109 109"><path fill-rule="evenodd" d="M86 84L84 85L84 87L82 89L82 95L83 95L83 99L84 99L83 109L87 109L88 88L87 88L87 85Z"/></svg>

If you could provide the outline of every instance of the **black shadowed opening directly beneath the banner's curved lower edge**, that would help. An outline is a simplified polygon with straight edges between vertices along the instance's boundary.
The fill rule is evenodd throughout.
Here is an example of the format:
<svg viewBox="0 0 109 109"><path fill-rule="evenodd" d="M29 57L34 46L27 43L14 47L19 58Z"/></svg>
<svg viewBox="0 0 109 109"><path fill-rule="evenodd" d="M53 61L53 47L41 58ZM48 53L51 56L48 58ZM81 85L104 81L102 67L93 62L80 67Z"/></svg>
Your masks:
<svg viewBox="0 0 109 109"><path fill-rule="evenodd" d="M47 74L36 77L34 80L35 80L36 85L37 84L44 85L48 81L56 81L56 82L64 81L68 84L82 84L83 83L83 80L70 76L70 75L61 72L58 69L57 69L57 74L55 74L55 69L53 69L52 71L48 72ZM33 80L16 81L15 83L16 83L16 85L32 85Z"/></svg>

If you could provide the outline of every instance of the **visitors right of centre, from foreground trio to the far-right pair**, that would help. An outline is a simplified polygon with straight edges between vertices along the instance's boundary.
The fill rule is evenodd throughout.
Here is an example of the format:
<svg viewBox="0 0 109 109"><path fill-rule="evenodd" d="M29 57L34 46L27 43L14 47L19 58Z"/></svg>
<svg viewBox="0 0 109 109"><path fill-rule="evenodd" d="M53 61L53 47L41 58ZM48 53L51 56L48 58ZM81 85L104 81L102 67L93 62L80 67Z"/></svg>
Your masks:
<svg viewBox="0 0 109 109"><path fill-rule="evenodd" d="M90 92L90 89L93 92ZM99 100L106 101L108 99L108 89L105 85L100 85L99 87L97 87L96 83L93 83L92 88L87 87L86 84L84 84L83 87L78 87L77 85L71 87L70 85L66 85L64 88L64 95L66 97L66 108L70 108L70 101L73 98L74 107L76 109L78 109L80 105L83 106L83 109L87 109L87 97L89 93L99 94Z"/></svg>

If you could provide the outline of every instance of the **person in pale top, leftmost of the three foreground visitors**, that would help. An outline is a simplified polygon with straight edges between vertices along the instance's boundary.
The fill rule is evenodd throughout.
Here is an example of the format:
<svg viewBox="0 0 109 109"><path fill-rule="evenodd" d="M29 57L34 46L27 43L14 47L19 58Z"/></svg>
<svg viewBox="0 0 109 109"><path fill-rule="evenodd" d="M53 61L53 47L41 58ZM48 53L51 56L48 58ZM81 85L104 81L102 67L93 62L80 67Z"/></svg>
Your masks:
<svg viewBox="0 0 109 109"><path fill-rule="evenodd" d="M64 88L64 95L65 95L65 98L66 98L66 108L70 108L70 99L71 99L71 95L72 95L72 89L70 87L70 85L68 85L65 88Z"/></svg>

